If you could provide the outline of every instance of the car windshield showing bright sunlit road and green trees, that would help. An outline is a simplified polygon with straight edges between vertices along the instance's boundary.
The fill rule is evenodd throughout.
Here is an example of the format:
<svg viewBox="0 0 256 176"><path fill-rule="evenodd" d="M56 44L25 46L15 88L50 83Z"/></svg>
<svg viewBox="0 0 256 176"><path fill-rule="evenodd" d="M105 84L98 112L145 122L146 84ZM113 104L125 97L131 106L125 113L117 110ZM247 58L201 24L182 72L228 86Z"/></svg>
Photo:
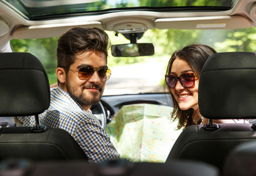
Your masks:
<svg viewBox="0 0 256 176"><path fill-rule="evenodd" d="M122 34L107 32L111 43L129 43ZM138 43L153 43L153 56L114 57L109 50L107 65L112 72L104 95L123 95L166 92L164 75L171 54L191 43L210 45L218 52L255 51L256 30L182 30L151 29L143 34ZM57 82L57 37L32 40L11 40L14 51L30 52L38 56L46 67L50 84ZM40 49L38 49L40 48Z"/></svg>

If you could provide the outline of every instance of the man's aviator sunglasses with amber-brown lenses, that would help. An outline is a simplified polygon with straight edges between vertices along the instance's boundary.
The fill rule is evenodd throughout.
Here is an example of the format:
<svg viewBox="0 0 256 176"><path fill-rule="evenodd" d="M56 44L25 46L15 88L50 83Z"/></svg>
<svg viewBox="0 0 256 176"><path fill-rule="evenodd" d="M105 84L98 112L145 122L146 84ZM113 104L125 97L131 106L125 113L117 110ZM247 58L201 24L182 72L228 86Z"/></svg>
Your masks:
<svg viewBox="0 0 256 176"><path fill-rule="evenodd" d="M77 70L73 70L68 68L68 70L74 71L78 73L78 77L81 80L88 80L90 79L94 72L96 71L98 73L99 78L101 79L101 81L107 81L110 78L111 75L111 71L107 66L104 67L92 67L90 65L87 65L85 67L80 67L80 69Z"/></svg>

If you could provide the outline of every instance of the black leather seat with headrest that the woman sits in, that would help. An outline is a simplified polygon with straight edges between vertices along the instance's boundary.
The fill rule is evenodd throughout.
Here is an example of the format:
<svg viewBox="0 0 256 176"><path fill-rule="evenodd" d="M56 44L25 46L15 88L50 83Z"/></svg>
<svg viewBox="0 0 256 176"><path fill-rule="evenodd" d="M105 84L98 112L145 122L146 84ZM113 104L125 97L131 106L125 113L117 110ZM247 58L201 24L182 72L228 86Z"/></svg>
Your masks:
<svg viewBox="0 0 256 176"><path fill-rule="evenodd" d="M176 160L205 161L221 172L224 160L238 144L256 141L252 124L213 124L215 119L256 118L256 56L250 52L213 54L199 81L199 109L210 119L180 134L166 163Z"/></svg>

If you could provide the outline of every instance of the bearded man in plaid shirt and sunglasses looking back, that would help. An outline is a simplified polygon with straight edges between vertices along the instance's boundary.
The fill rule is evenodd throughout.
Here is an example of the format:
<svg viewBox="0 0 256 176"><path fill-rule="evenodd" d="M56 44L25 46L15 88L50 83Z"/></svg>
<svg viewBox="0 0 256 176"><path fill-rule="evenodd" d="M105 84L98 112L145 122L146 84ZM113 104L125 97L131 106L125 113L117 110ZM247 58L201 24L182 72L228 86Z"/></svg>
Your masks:
<svg viewBox="0 0 256 176"><path fill-rule="evenodd" d="M57 46L57 88L51 89L51 104L40 114L49 128L63 128L76 139L90 163L118 159L90 106L99 103L110 78L107 68L109 38L101 29L74 28L63 34ZM35 125L34 118L17 117L18 125Z"/></svg>

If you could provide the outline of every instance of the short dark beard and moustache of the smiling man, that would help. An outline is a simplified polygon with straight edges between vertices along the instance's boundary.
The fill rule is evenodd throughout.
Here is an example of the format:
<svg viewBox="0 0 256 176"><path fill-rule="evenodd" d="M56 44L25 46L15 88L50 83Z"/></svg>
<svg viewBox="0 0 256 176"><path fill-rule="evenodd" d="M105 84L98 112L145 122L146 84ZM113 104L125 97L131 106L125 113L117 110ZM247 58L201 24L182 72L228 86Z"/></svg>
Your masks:
<svg viewBox="0 0 256 176"><path fill-rule="evenodd" d="M102 87L100 87L97 84L94 84L94 85L90 84L90 86L84 85L82 87L81 92L77 92L77 89L72 87L71 84L69 83L68 78L66 78L65 82L66 82L66 88L67 88L68 94L71 96L71 98L76 100L77 103L79 103L80 105L85 105L85 106L95 105L95 104L98 104L100 99L102 98ZM85 92L83 91L85 88L89 88L89 87L95 87L99 89L99 93L94 93L93 98L87 98L85 95Z"/></svg>

